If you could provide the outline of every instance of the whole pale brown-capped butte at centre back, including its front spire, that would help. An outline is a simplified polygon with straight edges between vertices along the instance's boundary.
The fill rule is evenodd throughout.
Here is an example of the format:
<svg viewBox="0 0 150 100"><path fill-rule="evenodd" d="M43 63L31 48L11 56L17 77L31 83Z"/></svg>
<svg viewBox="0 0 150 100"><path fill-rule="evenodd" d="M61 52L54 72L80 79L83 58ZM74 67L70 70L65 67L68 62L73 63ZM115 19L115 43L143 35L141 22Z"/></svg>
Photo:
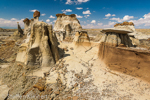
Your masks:
<svg viewBox="0 0 150 100"><path fill-rule="evenodd" d="M56 14L56 16L54 31L59 41L71 37L75 31L82 30L82 26L75 14Z"/></svg>

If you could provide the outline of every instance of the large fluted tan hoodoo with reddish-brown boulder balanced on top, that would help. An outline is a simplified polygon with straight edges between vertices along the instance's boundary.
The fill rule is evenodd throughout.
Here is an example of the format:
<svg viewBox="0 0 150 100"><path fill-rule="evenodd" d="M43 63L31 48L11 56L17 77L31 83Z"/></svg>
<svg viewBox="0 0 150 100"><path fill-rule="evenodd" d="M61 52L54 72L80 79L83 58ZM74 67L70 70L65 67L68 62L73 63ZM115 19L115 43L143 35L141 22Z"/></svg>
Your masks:
<svg viewBox="0 0 150 100"><path fill-rule="evenodd" d="M39 22L39 13L34 13L34 20L31 22L31 31L28 30L25 43L20 46L16 61L25 65L39 65L48 67L55 64L59 59L58 44L53 34L52 25Z"/></svg>

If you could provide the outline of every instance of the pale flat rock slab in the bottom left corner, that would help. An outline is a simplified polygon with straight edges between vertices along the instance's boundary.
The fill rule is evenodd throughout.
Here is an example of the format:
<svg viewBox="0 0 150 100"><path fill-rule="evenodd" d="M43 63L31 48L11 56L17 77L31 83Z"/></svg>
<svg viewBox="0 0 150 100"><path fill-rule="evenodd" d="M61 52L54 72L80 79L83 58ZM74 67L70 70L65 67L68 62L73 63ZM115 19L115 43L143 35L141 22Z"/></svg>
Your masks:
<svg viewBox="0 0 150 100"><path fill-rule="evenodd" d="M7 85L0 86L0 100L4 100L8 96L9 88Z"/></svg>

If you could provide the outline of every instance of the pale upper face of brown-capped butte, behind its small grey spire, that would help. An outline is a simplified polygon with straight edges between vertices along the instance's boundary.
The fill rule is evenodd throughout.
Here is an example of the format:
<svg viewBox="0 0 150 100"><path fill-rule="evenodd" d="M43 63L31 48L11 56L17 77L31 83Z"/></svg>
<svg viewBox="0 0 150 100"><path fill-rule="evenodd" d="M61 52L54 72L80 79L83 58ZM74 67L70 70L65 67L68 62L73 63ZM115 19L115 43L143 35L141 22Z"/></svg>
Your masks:
<svg viewBox="0 0 150 100"><path fill-rule="evenodd" d="M54 31L65 31L66 26L69 24L72 31L82 29L80 22L76 18L75 14L65 15L65 14L56 14L57 20L54 25Z"/></svg>

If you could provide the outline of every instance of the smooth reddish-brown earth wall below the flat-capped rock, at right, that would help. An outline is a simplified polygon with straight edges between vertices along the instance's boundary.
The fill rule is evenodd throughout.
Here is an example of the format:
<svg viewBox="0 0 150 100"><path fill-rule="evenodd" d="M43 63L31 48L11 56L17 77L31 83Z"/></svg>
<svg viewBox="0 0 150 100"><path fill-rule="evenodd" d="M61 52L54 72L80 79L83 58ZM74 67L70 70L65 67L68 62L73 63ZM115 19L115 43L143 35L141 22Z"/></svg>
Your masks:
<svg viewBox="0 0 150 100"><path fill-rule="evenodd" d="M142 50L117 48L101 43L99 58L111 69L150 82L150 53Z"/></svg>

